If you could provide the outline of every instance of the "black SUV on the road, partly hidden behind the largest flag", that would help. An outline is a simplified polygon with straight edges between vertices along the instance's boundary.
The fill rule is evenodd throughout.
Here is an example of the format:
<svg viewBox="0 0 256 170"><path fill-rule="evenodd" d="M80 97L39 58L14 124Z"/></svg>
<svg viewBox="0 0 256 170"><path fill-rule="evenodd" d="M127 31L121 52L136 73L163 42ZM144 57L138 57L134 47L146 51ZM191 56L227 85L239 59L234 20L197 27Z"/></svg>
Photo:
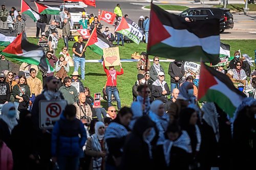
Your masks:
<svg viewBox="0 0 256 170"><path fill-rule="evenodd" d="M189 8L179 16L200 21L205 19L217 18L220 19L220 33L225 29L232 29L234 27L233 15L229 12L229 9L224 8Z"/></svg>

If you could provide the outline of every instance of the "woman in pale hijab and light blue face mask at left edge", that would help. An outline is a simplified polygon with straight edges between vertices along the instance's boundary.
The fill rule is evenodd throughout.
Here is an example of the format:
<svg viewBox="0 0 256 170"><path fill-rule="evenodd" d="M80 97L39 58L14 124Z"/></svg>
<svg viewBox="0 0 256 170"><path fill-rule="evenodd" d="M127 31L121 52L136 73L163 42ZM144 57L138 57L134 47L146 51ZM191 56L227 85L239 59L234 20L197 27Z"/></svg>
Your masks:
<svg viewBox="0 0 256 170"><path fill-rule="evenodd" d="M18 124L16 118L16 110L13 103L9 102L2 108L2 115L0 115L0 134L2 140L10 147L11 132Z"/></svg>

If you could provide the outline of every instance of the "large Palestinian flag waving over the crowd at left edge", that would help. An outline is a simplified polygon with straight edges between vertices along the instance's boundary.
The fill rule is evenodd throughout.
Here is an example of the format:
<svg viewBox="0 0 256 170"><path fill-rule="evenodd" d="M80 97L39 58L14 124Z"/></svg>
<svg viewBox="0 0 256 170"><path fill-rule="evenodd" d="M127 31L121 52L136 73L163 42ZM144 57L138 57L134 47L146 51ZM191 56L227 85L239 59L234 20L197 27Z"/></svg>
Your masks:
<svg viewBox="0 0 256 170"><path fill-rule="evenodd" d="M48 72L54 71L45 57L44 49L28 42L24 33L19 34L0 54L13 60L39 65Z"/></svg>

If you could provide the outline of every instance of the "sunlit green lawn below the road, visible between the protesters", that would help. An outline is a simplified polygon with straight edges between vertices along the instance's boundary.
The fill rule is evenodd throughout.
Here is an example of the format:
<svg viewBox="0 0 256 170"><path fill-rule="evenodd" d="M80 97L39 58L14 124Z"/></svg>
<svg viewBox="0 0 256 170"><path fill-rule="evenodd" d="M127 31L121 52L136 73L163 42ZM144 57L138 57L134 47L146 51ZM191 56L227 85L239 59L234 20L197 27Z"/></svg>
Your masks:
<svg viewBox="0 0 256 170"><path fill-rule="evenodd" d="M28 38L30 42L37 43L37 39ZM253 57L254 60L254 50L256 40L222 40L223 43L230 45L230 55L232 56L235 50L241 50L242 54L247 53L250 57ZM74 42L69 42L69 49L71 50ZM56 54L59 54L61 47L64 45L63 40L59 40L59 49ZM3 50L3 46L0 46L0 51ZM146 44L141 43L139 45L135 43L127 44L119 47L120 57L121 59L131 59L131 54L134 52L141 53L142 51L146 51ZM71 54L71 53L70 53ZM86 52L86 59L100 59L101 56L93 53L89 48ZM58 55L57 55L58 57ZM153 56L150 56L150 59L153 59ZM164 58L160 58L164 59ZM15 62L15 61L14 61ZM151 63L153 64L153 63ZM170 86L170 76L167 75L169 62L161 62L160 63L166 74L166 82ZM120 92L121 105L122 106L130 106L133 95L132 95L132 86L134 85L137 79L137 62L122 62L122 67L124 69L124 74L122 76L118 76L118 90ZM119 66L116 66L117 70L120 70ZM69 75L72 74L74 67L70 67ZM79 70L80 72L80 70ZM41 79L41 75L38 74L38 78ZM106 76L103 70L103 67L100 63L86 63L86 80L83 81L84 86L88 86L91 89L92 94L95 92L101 92L103 86L105 85ZM103 106L106 106L106 102L101 102ZM116 106L116 103L114 104Z"/></svg>

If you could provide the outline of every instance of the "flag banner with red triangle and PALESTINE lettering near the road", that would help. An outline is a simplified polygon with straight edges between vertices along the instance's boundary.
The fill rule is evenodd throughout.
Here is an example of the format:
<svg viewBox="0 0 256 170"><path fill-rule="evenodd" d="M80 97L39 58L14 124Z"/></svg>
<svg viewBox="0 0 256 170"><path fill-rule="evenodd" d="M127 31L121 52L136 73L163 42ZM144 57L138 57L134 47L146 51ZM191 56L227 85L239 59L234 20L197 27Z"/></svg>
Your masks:
<svg viewBox="0 0 256 170"><path fill-rule="evenodd" d="M137 23L135 23L130 18L122 17L121 21L115 29L115 32L123 34L125 37L130 38L136 44L139 44L143 39L143 30L141 30Z"/></svg>

